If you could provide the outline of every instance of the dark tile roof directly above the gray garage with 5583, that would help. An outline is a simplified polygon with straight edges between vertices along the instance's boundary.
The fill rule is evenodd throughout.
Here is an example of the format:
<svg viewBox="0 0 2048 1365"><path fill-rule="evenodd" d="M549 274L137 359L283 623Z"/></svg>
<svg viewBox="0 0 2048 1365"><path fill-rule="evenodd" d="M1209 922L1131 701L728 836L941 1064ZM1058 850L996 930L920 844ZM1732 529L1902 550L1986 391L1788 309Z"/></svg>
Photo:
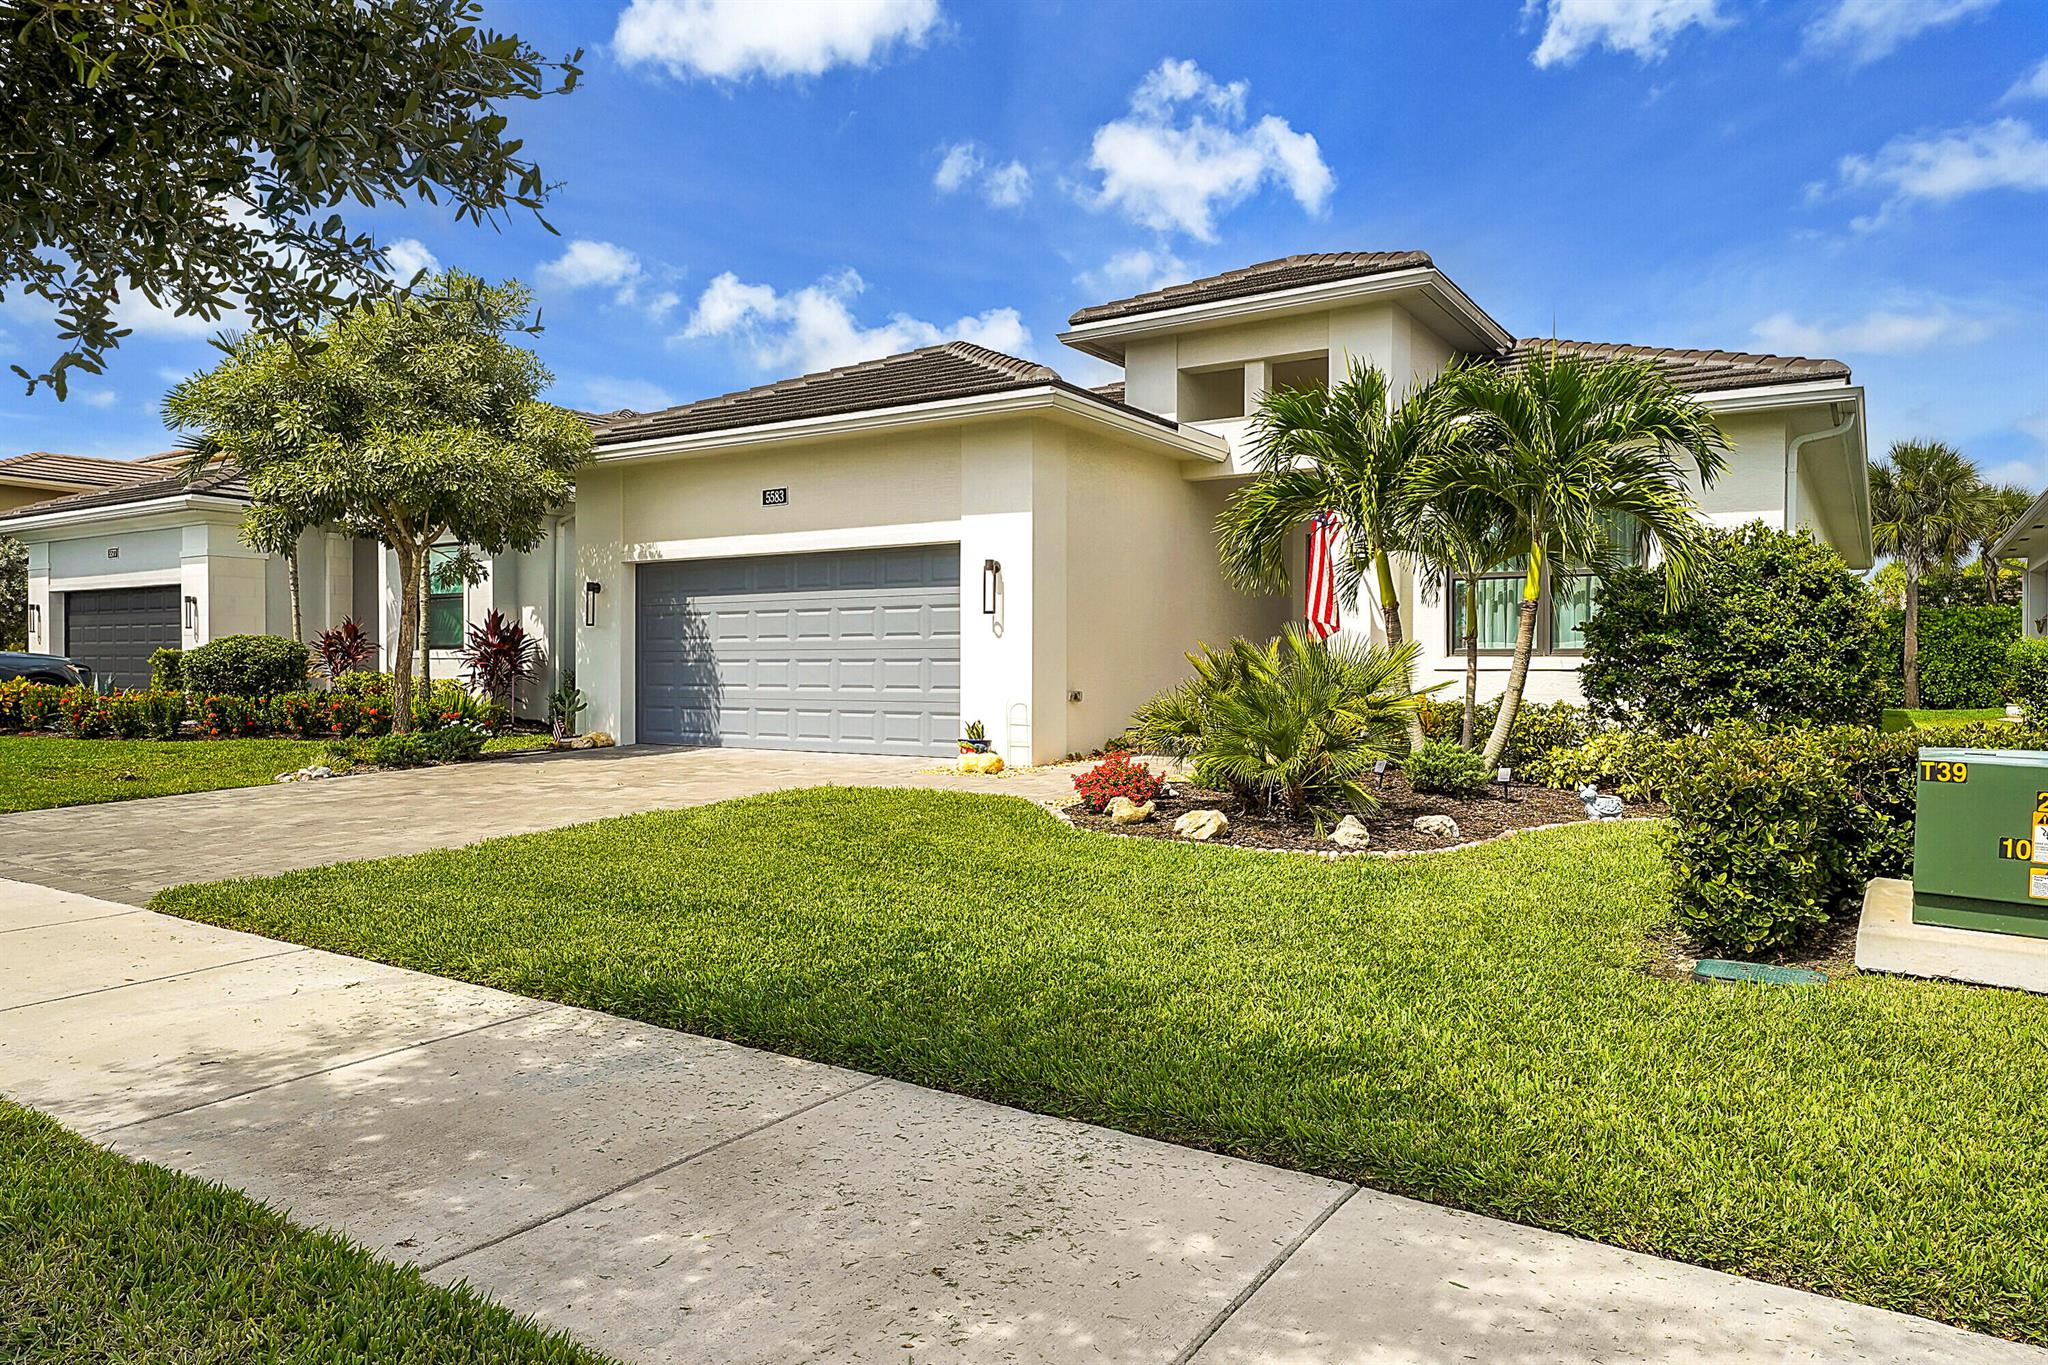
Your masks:
<svg viewBox="0 0 2048 1365"><path fill-rule="evenodd" d="M1071 385L1051 366L969 342L942 342L897 356L842 364L836 370L780 379L758 389L741 389L662 411L584 413L584 420L596 428L596 442L602 448L659 436L725 432L1040 387L1065 389L1171 426L1165 417L1128 407L1118 397Z"/></svg>

